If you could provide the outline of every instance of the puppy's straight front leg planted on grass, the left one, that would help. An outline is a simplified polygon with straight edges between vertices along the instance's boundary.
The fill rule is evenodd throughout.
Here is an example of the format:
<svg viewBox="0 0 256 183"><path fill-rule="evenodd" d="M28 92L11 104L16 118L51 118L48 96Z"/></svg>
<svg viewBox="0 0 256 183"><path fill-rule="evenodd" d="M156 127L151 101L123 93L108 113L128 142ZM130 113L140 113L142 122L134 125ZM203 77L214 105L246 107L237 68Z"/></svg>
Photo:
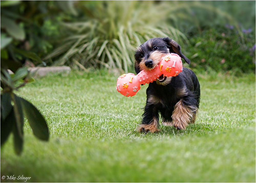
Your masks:
<svg viewBox="0 0 256 183"><path fill-rule="evenodd" d="M159 114L156 106L150 104L149 102L146 103L143 118L140 126L138 126L139 132L157 132L159 131L157 127L159 126Z"/></svg>

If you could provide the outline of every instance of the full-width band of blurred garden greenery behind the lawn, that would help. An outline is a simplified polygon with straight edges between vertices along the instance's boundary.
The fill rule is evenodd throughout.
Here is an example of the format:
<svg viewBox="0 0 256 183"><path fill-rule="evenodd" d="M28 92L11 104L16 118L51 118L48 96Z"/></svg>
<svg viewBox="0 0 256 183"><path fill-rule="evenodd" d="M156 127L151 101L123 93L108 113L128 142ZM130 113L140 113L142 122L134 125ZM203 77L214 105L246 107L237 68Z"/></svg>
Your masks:
<svg viewBox="0 0 256 183"><path fill-rule="evenodd" d="M255 72L254 5L253 1L2 1L1 53L35 65L42 59L48 66L127 72L133 71L137 46L168 36L181 45L193 70ZM20 50L40 59L28 58Z"/></svg>

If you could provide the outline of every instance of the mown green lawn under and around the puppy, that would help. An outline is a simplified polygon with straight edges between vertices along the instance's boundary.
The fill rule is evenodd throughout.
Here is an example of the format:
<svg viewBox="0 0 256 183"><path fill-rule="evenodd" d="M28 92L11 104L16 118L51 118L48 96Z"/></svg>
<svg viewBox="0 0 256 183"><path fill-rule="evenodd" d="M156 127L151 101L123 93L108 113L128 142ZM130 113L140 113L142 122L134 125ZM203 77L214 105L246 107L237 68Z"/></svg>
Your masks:
<svg viewBox="0 0 256 183"><path fill-rule="evenodd" d="M25 123L21 156L1 147L1 177L27 182L255 182L255 75L198 74L201 102L186 130L140 134L147 86L133 97L117 77L72 72L37 80L18 94L44 114L50 141ZM2 182L12 182L1 180ZM14 180L23 182L22 180Z"/></svg>

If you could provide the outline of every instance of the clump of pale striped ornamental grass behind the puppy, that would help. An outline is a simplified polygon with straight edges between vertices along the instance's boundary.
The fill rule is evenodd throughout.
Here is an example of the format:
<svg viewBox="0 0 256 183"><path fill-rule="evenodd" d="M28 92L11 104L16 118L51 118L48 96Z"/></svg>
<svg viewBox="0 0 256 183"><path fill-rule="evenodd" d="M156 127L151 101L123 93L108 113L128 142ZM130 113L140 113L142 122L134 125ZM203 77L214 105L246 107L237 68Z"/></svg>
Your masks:
<svg viewBox="0 0 256 183"><path fill-rule="evenodd" d="M134 50L147 39L169 36L187 41L180 31L167 24L167 15L174 7L166 9L164 3L108 1L93 6L79 2L77 6L82 17L63 24L71 36L44 60L75 68L106 67L127 72L133 65Z"/></svg>

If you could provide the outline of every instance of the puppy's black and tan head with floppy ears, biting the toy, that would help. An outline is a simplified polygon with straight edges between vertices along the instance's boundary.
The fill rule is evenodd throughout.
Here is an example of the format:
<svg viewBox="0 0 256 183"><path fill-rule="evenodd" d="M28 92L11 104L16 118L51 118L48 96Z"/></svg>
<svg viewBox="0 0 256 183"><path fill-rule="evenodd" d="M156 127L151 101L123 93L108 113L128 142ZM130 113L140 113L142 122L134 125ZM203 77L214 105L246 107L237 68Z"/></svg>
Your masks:
<svg viewBox="0 0 256 183"><path fill-rule="evenodd" d="M188 64L190 60L185 57L178 43L168 37L165 38L153 38L147 40L135 51L135 72L138 74L141 70L151 70L159 61L168 53L176 53L183 58ZM166 77L160 76L159 82L164 82Z"/></svg>

